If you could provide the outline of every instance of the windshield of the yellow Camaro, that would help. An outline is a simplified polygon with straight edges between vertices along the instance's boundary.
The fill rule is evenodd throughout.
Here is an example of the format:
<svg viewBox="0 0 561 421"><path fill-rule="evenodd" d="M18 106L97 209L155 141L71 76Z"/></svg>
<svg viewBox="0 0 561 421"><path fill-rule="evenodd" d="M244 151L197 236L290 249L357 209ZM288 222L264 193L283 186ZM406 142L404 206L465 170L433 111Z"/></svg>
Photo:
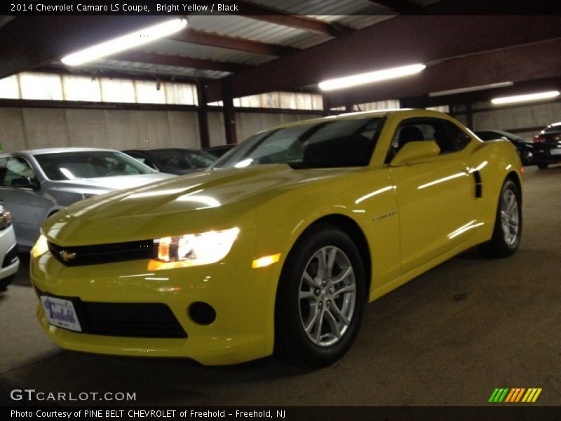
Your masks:
<svg viewBox="0 0 561 421"><path fill-rule="evenodd" d="M257 133L213 168L288 163L292 168L367 166L381 119L334 119Z"/></svg>

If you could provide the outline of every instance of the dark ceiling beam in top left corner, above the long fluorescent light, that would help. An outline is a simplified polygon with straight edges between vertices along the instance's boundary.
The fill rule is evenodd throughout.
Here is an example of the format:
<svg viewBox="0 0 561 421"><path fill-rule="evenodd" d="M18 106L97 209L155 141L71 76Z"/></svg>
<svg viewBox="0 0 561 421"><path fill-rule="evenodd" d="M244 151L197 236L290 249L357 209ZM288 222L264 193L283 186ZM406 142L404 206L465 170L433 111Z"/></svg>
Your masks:
<svg viewBox="0 0 561 421"><path fill-rule="evenodd" d="M18 16L0 28L0 78L48 65L166 16Z"/></svg>

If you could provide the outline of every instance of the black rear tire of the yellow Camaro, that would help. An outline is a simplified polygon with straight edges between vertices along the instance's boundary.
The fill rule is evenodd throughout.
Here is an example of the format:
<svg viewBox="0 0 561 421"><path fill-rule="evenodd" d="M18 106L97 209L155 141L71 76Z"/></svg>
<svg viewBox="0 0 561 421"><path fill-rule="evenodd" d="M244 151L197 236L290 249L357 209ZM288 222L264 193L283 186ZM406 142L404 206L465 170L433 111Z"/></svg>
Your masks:
<svg viewBox="0 0 561 421"><path fill-rule="evenodd" d="M513 237L513 241L507 241L507 234L503 227L502 212L503 198L505 194L511 192L516 199L516 209L518 210L518 230ZM509 225L510 227L510 225ZM513 232L508 235L513 236ZM479 248L483 254L489 258L507 258L513 255L520 245L520 238L522 236L522 200L520 197L520 189L513 180L507 179L501 189L499 195L499 202L496 206L495 225L493 229L493 236L486 243L482 243Z"/></svg>

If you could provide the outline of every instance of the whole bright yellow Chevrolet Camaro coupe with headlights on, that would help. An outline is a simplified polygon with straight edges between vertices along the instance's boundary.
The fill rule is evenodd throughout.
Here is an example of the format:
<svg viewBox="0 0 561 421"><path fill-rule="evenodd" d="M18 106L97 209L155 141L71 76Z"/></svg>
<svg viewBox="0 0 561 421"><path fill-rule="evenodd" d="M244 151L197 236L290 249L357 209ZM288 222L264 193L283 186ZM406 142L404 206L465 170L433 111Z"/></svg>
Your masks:
<svg viewBox="0 0 561 421"><path fill-rule="evenodd" d="M32 250L60 346L228 364L349 349L365 303L522 232L521 163L425 110L344 114L252 136L210 171L55 213Z"/></svg>

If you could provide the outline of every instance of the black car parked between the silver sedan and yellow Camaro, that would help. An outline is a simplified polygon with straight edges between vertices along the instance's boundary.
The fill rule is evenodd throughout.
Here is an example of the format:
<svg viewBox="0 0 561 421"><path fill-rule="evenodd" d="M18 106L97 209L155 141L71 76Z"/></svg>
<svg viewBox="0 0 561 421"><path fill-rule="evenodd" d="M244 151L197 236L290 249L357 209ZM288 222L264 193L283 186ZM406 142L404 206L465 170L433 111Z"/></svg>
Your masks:
<svg viewBox="0 0 561 421"><path fill-rule="evenodd" d="M151 148L123 151L161 173L183 175L201 171L216 161L215 156L198 149Z"/></svg>

